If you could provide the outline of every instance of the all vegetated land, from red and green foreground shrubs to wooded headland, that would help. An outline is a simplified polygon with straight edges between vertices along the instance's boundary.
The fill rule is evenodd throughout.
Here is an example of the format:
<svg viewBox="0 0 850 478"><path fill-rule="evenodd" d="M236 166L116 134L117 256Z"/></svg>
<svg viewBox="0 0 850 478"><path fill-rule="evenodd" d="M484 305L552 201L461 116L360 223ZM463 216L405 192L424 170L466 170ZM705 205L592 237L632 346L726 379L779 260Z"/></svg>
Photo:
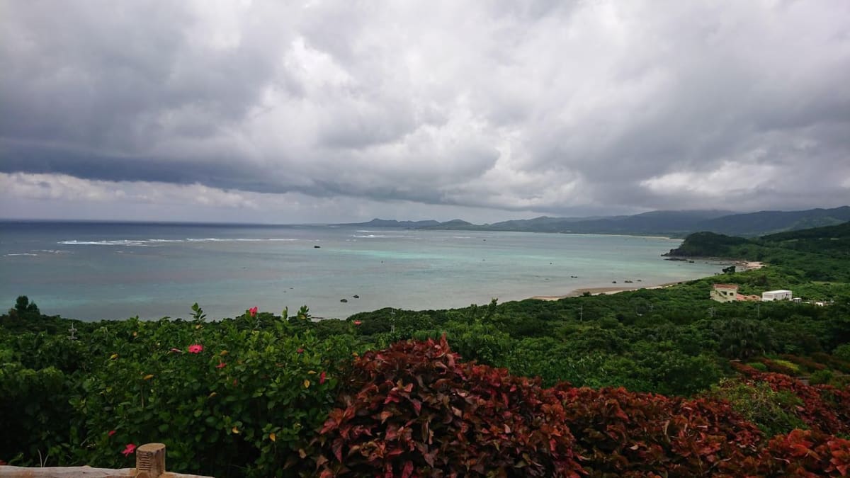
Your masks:
<svg viewBox="0 0 850 478"><path fill-rule="evenodd" d="M850 223L671 255L768 266L323 321L80 322L21 297L0 316L0 460L120 468L161 441L169 469L215 476L850 472ZM715 282L825 305L721 304Z"/></svg>

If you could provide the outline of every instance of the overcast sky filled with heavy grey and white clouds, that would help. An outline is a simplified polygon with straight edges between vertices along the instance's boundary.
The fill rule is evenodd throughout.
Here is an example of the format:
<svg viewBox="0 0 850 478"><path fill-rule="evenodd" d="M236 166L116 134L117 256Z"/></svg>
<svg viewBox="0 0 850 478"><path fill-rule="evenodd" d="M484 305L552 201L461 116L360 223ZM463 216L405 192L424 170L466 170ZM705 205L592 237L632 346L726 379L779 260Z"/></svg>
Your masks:
<svg viewBox="0 0 850 478"><path fill-rule="evenodd" d="M850 203L850 2L0 0L0 218Z"/></svg>

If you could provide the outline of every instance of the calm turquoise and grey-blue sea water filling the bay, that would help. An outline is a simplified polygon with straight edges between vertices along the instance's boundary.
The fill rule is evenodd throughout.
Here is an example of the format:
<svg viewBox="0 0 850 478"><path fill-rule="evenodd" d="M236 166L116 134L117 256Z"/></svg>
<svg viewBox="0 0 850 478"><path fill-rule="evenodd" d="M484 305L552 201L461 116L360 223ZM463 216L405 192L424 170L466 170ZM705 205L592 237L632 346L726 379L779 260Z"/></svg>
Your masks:
<svg viewBox="0 0 850 478"><path fill-rule="evenodd" d="M444 309L651 286L721 265L666 261L655 237L335 226L0 223L0 307L25 294L83 320L235 316L257 305L314 316ZM319 246L319 248L315 248ZM573 277L575 276L575 277ZM635 285L638 285L636 282ZM354 299L354 295L360 299ZM348 299L341 303L340 299Z"/></svg>

